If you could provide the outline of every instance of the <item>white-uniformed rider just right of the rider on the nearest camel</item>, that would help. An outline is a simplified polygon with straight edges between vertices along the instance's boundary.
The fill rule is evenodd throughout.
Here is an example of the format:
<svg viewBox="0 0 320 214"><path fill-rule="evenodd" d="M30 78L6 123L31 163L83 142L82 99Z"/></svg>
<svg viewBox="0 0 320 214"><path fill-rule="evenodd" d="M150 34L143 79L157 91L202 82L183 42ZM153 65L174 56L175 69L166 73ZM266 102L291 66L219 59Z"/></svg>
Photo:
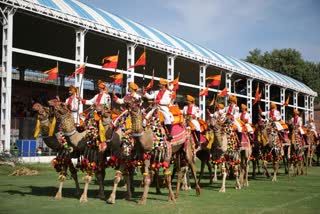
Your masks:
<svg viewBox="0 0 320 214"><path fill-rule="evenodd" d="M193 124L196 134L196 144L200 145L200 123L197 120L200 117L200 109L195 104L195 98L191 95L187 95L187 105L183 107L183 115Z"/></svg>

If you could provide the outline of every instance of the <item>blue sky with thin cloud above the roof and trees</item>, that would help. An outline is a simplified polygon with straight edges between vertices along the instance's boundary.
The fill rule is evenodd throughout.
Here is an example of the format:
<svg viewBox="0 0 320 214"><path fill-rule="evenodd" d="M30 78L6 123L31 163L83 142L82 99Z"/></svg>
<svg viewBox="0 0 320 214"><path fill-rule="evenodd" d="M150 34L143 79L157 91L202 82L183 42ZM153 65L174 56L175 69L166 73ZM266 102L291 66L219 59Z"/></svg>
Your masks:
<svg viewBox="0 0 320 214"><path fill-rule="evenodd" d="M320 62L318 0L80 1L238 59L293 48Z"/></svg>

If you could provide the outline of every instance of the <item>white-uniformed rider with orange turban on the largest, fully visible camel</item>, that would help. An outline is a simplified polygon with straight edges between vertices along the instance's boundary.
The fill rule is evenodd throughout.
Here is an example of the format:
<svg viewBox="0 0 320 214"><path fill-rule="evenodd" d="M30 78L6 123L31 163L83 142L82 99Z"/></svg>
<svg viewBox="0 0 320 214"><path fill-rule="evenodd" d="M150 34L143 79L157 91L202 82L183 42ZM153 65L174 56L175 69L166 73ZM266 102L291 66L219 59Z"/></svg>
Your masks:
<svg viewBox="0 0 320 214"><path fill-rule="evenodd" d="M171 90L169 90L169 82L166 79L160 78L159 80L160 90L155 91L153 94L149 94L143 91L144 97L155 102L154 107L147 114L146 118L149 119L153 112L158 109L164 116L164 125L167 132L167 140L172 140L171 135L171 123L173 121L173 115L169 111L169 105L171 103Z"/></svg>

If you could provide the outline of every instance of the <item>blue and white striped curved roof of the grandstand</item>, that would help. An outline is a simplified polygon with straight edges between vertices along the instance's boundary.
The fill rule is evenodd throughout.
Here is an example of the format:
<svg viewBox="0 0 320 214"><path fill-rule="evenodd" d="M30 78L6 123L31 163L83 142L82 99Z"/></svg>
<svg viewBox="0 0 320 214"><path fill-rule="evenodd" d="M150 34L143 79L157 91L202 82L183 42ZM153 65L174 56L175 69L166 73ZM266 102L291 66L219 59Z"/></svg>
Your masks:
<svg viewBox="0 0 320 214"><path fill-rule="evenodd" d="M317 96L317 93L308 86L286 75L234 57L225 56L214 50L190 43L181 38L163 33L155 28L119 17L76 0L0 0L0 2L13 4L21 9L37 12L63 21L68 20L68 22L73 24L82 24L88 26L89 29L100 29L100 31L108 32L109 34L127 40L134 39L137 43L144 41L142 44L145 46L159 48L176 55L231 70L254 79ZM115 31L117 31L117 33L115 33Z"/></svg>

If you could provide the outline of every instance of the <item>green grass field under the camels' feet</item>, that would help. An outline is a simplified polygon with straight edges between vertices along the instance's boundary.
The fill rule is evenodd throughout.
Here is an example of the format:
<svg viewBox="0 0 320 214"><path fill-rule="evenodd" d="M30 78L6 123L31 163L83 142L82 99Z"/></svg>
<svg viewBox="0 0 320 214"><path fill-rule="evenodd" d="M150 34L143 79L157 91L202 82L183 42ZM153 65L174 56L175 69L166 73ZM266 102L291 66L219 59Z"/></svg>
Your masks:
<svg viewBox="0 0 320 214"><path fill-rule="evenodd" d="M167 190L161 195L150 189L146 205L136 202L142 195L142 189L136 188L132 201L124 200L124 190L120 189L116 204L110 205L96 198L98 186L92 184L88 192L88 203L80 204L74 196L74 182L68 179L63 189L63 199L56 201L53 196L58 189L58 174L49 164L25 165L39 170L34 176L8 176L14 168L0 166L0 213L320 213L320 167L308 169L307 176L288 178L280 169L278 181L258 176L250 180L246 189L235 190L234 180L227 181L226 193L219 193L221 181L209 185L205 178L201 181L201 196L194 190L181 192L174 202L167 201ZM22 166L17 166L21 168ZM83 173L79 180L83 188ZM206 174L207 175L207 174ZM111 192L114 170L108 169L105 181L105 193ZM140 180L140 176L135 177ZM175 180L174 180L175 182Z"/></svg>

